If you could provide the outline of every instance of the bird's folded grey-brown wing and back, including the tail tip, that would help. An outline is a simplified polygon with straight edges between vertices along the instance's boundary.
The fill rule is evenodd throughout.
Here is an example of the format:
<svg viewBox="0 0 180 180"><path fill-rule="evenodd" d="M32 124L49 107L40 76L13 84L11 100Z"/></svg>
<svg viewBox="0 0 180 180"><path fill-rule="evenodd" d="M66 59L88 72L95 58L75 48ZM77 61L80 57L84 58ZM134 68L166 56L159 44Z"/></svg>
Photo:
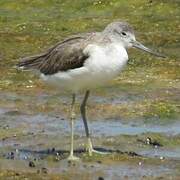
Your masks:
<svg viewBox="0 0 180 180"><path fill-rule="evenodd" d="M43 54L23 58L17 66L23 69L36 69L46 75L82 67L88 58L83 49L90 37L91 34L88 33L66 39Z"/></svg>

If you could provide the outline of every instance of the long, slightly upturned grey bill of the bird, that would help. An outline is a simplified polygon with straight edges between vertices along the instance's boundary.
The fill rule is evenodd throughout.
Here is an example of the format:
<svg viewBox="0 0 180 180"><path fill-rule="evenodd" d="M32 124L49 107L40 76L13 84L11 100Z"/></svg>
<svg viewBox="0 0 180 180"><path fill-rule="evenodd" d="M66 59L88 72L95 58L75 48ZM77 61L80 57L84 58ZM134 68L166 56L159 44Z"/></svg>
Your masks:
<svg viewBox="0 0 180 180"><path fill-rule="evenodd" d="M146 46L144 46L143 44L141 44L141 43L138 42L138 41L133 41L133 42L132 42L132 46L135 47L135 48L137 48L137 49L140 49L140 50L143 50L143 51L145 51L145 52L148 52L148 53L150 53L150 54L153 54L153 55L155 55L155 56L162 57L162 58L166 58L166 56L164 56L163 54L160 54L160 53L158 53L158 52L155 52L155 51L147 48Z"/></svg>

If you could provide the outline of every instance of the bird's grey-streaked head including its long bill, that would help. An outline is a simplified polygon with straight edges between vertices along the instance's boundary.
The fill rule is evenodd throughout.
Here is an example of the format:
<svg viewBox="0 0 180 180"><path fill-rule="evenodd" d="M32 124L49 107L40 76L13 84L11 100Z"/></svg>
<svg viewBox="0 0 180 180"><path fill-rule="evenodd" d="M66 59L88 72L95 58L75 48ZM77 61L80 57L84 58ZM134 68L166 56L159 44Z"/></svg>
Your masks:
<svg viewBox="0 0 180 180"><path fill-rule="evenodd" d="M104 34L107 35L112 42L121 43L124 48L137 48L153 54L158 57L165 57L164 55L155 52L140 42L136 41L133 28L127 22L113 22L107 25L104 29Z"/></svg>

